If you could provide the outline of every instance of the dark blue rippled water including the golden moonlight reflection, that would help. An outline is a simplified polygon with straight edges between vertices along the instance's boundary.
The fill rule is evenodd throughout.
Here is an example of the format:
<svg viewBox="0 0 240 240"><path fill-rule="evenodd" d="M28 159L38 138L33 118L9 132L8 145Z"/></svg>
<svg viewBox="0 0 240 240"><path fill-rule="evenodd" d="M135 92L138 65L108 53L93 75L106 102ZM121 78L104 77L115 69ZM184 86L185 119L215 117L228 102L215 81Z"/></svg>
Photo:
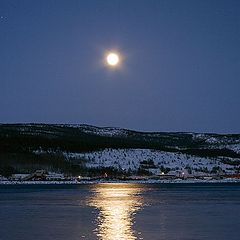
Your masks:
<svg viewBox="0 0 240 240"><path fill-rule="evenodd" d="M239 240L240 184L0 186L0 240Z"/></svg>

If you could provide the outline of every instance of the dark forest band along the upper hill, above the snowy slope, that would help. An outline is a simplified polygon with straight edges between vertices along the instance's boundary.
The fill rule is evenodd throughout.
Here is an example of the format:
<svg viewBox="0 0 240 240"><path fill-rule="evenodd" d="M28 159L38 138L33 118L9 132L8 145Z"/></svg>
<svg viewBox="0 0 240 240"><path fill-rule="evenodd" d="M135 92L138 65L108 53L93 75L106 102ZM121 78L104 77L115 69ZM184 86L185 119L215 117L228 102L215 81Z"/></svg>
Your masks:
<svg viewBox="0 0 240 240"><path fill-rule="evenodd" d="M86 127L85 127L86 130ZM221 135L220 135L221 136ZM240 135L229 135L240 139ZM223 136L225 137L225 135ZM59 125L0 125L1 153L32 153L34 150L86 152L104 148L147 148L182 152L197 156L239 158L229 149L208 148L201 139L186 133L141 133L127 131L124 136L100 136L81 128Z"/></svg>

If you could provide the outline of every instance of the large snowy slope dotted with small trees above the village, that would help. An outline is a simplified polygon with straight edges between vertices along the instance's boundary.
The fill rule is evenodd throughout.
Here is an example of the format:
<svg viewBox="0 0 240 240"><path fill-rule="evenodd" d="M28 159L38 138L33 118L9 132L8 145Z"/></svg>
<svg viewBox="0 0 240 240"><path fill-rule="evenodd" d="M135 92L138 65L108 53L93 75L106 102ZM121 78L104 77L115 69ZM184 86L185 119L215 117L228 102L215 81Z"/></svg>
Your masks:
<svg viewBox="0 0 240 240"><path fill-rule="evenodd" d="M87 167L115 167L123 170L137 170L142 161L153 160L155 168L149 171L159 174L160 167L171 171L183 171L190 168L193 174L220 167L226 173L235 173L236 169L221 162L221 158L202 158L182 153L163 152L150 149L104 149L87 153L65 153L67 158L85 159Z"/></svg>

